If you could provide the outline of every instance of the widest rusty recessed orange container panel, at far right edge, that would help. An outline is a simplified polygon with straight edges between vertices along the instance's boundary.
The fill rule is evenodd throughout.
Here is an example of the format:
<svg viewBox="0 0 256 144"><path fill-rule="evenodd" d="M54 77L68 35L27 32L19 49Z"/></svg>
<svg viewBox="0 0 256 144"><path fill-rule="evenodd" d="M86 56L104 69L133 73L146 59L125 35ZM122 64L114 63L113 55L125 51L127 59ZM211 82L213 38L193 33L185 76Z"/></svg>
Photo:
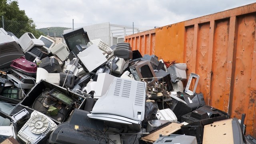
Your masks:
<svg viewBox="0 0 256 144"><path fill-rule="evenodd" d="M246 113L246 132L252 134L254 124L255 92L251 90L252 61L255 43L256 15L237 18L236 62L233 75L234 86L231 117L241 118ZM255 82L255 80L254 80ZM253 107L252 107L253 106Z"/></svg>

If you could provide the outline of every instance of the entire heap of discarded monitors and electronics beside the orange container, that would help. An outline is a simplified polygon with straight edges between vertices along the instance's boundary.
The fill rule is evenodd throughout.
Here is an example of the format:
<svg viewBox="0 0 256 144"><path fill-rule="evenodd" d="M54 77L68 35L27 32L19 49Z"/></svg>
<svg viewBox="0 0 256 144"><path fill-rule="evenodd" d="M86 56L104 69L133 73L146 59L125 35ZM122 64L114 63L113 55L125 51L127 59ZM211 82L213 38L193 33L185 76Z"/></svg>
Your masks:
<svg viewBox="0 0 256 144"><path fill-rule="evenodd" d="M244 117L205 105L186 64L89 36L70 30L56 43L0 28L0 143L255 142Z"/></svg>

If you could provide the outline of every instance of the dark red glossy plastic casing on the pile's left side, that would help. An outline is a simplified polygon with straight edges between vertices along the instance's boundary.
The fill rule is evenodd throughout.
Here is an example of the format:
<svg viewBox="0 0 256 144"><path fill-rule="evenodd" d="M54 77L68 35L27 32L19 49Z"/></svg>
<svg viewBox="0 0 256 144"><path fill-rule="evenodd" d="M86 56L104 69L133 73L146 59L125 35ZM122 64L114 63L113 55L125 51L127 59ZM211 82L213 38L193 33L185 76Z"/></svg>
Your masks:
<svg viewBox="0 0 256 144"><path fill-rule="evenodd" d="M34 62L30 62L26 60L24 56L16 60L13 60L10 67L13 68L14 70L18 70L19 72L29 76L35 75L37 70L36 64Z"/></svg>

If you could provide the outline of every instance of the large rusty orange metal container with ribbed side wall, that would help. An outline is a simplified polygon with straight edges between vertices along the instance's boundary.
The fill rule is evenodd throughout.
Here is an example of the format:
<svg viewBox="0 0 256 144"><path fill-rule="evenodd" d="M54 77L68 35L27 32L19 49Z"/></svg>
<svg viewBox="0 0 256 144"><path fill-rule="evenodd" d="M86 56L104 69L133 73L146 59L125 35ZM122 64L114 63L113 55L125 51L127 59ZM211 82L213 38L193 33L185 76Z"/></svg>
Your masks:
<svg viewBox="0 0 256 144"><path fill-rule="evenodd" d="M256 3L125 37L133 50L187 64L206 103L241 118L256 136Z"/></svg>

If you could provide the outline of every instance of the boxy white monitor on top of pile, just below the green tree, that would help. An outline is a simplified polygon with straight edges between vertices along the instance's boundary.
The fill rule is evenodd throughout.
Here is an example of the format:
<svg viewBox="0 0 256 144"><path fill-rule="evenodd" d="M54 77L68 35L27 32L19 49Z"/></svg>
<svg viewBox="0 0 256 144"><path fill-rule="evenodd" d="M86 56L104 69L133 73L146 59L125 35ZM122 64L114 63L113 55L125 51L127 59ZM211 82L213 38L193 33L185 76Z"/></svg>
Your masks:
<svg viewBox="0 0 256 144"><path fill-rule="evenodd" d="M24 53L30 51L32 48L34 48L34 46L44 46L44 42L42 40L36 39L35 36L30 32L23 34L18 40L18 43L20 44L20 47Z"/></svg>

